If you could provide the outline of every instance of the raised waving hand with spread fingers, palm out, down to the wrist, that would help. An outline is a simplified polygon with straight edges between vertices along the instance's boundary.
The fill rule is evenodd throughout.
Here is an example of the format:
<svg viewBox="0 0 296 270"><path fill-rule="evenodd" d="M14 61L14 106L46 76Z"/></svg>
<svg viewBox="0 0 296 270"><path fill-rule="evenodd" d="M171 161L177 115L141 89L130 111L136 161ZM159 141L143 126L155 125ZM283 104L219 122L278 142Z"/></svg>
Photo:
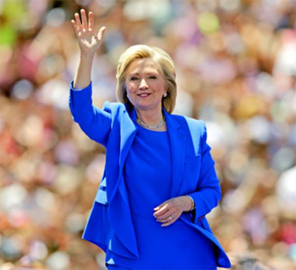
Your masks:
<svg viewBox="0 0 296 270"><path fill-rule="evenodd" d="M79 14L75 13L75 21L71 20L71 23L73 25L81 53L84 55L94 56L96 50L102 44L106 27L101 27L98 34L96 35L94 31L94 14L91 11L88 13L87 23L85 10L81 9L80 12L82 22L80 21Z"/></svg>

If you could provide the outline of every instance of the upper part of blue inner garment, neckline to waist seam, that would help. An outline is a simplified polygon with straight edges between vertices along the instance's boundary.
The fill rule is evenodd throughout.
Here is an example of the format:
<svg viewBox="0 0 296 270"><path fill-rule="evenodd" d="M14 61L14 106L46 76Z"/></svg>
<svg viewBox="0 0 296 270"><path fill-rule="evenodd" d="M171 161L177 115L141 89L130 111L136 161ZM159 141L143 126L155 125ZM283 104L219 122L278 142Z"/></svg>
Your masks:
<svg viewBox="0 0 296 270"><path fill-rule="evenodd" d="M126 157L124 179L131 211L153 218L153 208L170 198L169 138L167 131L153 131L137 125L138 133ZM134 170L139 166L140 169Z"/></svg>

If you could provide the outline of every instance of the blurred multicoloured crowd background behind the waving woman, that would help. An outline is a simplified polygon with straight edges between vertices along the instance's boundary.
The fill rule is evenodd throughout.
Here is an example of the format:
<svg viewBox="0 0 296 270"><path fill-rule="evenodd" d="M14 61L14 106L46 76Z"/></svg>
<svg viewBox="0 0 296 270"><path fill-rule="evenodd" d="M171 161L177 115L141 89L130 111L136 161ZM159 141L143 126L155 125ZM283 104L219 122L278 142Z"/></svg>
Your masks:
<svg viewBox="0 0 296 270"><path fill-rule="evenodd" d="M295 0L0 0L0 269L105 269L80 239L105 164L68 107L80 8L107 27L94 105L115 101L127 47L166 50L175 113L207 124L232 269L296 269Z"/></svg>

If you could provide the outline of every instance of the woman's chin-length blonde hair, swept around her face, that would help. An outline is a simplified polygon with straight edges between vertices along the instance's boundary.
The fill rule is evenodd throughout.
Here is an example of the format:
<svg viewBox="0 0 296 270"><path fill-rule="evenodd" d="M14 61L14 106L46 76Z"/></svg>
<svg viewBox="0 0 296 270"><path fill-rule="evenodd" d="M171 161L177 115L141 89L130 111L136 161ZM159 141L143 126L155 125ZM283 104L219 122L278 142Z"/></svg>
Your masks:
<svg viewBox="0 0 296 270"><path fill-rule="evenodd" d="M119 102L133 106L127 97L125 78L126 71L132 61L135 59L151 58L155 60L161 67L162 76L165 79L165 87L167 96L162 98L162 106L168 113L172 113L177 96L177 84L175 66L172 58L164 50L158 47L150 47L148 45L130 46L123 54L121 54L117 65L117 85L116 97Z"/></svg>

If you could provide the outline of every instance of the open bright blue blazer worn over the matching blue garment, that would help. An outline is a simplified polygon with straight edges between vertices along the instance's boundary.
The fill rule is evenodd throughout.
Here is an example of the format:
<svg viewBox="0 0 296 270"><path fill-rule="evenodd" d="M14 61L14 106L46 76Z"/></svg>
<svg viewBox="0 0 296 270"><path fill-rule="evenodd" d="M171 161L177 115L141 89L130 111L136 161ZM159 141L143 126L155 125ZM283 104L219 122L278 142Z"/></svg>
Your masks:
<svg viewBox="0 0 296 270"><path fill-rule="evenodd" d="M107 149L104 175L82 238L105 252L110 249L120 256L137 259L137 239L123 179L125 159L138 130L136 113L122 103L105 102L101 110L92 105L91 96L92 83L77 91L71 82L69 106L73 120L90 139ZM221 199L215 162L206 143L205 123L163 111L173 162L171 197L189 194L196 205L195 211L184 212L180 220L215 244L218 267L230 268L230 261L205 217Z"/></svg>

